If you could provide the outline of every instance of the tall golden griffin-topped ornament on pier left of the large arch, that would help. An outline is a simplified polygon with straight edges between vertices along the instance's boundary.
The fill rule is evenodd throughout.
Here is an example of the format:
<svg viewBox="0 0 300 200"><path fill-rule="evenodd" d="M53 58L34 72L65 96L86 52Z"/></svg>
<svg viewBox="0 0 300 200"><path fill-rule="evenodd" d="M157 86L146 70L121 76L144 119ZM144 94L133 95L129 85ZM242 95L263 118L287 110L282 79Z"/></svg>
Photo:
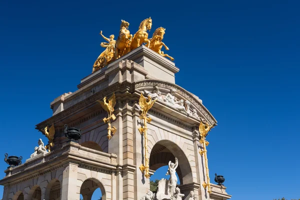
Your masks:
<svg viewBox="0 0 300 200"><path fill-rule="evenodd" d="M140 110L141 110L141 114L139 115L139 118L143 120L143 127L140 126L138 128L138 131L140 132L140 134L144 134L144 149L145 149L145 164L141 164L139 166L139 169L141 170L141 172L144 173L146 178L149 178L149 159L148 159L148 137L147 137L147 122L149 123L151 121L150 117L147 117L147 112L148 110L153 106L154 102L156 101L151 99L151 96L148 96L148 99L146 99L142 93L140 94L139 97L139 106L140 106Z"/></svg>

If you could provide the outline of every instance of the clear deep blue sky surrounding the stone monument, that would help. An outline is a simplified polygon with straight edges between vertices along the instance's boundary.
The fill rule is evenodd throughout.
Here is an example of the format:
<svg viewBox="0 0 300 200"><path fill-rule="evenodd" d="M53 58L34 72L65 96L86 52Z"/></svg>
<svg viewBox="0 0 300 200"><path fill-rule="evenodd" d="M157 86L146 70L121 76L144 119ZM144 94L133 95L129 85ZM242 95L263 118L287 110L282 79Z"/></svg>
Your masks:
<svg viewBox="0 0 300 200"><path fill-rule="evenodd" d="M46 140L34 125L91 72L100 30L117 36L124 19L134 33L151 16L150 35L166 28L176 83L218 121L210 175L224 175L233 200L300 198L299 9L297 0L1 0L0 153L26 159Z"/></svg>

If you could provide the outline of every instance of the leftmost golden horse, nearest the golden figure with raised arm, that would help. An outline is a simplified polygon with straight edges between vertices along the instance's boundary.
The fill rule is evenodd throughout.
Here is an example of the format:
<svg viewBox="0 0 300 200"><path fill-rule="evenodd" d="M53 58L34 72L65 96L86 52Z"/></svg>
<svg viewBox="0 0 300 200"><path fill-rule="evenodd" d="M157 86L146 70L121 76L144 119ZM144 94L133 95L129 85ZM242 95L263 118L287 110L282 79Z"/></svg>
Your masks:
<svg viewBox="0 0 300 200"><path fill-rule="evenodd" d="M130 31L128 30L129 23L123 19L121 21L119 36L115 41L114 59L117 59L130 51L132 34L130 34Z"/></svg>

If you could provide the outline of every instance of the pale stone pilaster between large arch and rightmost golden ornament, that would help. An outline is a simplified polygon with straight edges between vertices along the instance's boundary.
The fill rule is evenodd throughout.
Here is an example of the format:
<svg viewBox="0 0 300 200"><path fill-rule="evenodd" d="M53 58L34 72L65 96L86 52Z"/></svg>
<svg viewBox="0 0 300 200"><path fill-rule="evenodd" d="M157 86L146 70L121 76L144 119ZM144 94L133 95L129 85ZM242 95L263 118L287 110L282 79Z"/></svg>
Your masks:
<svg viewBox="0 0 300 200"><path fill-rule="evenodd" d="M205 169L205 166L204 166L205 163L203 162L202 156L199 153L199 150L200 150L200 148L198 147L200 145L199 133L196 130L194 130L192 132L192 139L193 139L193 146L194 146L194 153L195 153L197 182L199 183L198 192L194 192L194 194L195 194L196 197L198 197L198 199L202 199L202 200L209 199L209 193L205 192L205 189L202 186L202 183L205 180L205 170L204 170Z"/></svg>

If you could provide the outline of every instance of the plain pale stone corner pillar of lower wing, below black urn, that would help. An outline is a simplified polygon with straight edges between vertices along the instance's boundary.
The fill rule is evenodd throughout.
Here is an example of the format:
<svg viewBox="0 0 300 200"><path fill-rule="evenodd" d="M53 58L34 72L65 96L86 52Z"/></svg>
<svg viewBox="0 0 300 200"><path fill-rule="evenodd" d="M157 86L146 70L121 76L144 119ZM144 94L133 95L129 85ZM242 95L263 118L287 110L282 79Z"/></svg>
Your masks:
<svg viewBox="0 0 300 200"><path fill-rule="evenodd" d="M61 200L79 200L77 193L78 164L68 163L63 170Z"/></svg>

